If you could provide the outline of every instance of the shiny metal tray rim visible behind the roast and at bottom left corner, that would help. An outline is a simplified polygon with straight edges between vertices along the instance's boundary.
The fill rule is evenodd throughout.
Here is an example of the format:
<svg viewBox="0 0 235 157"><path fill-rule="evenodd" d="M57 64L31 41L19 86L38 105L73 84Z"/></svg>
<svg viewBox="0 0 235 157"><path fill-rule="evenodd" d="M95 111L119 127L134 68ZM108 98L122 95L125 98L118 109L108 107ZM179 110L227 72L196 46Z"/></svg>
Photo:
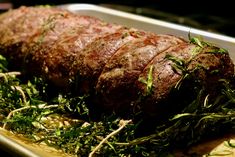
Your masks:
<svg viewBox="0 0 235 157"><path fill-rule="evenodd" d="M227 49L230 53L231 58L233 59L233 61L235 61L235 38L233 37L210 33L207 31L202 31L92 4L65 4L59 5L58 7L68 9L74 13L98 17L109 23L117 23L127 27L134 27L158 34L171 34L183 37L185 39L188 38L189 33L191 33L192 36L201 36L205 41L214 43L220 47ZM3 129L0 129L0 150L4 150L10 155L18 157L69 156L68 154L64 155L61 152L58 153L55 150L47 150L45 149L45 146L32 146L30 142L25 142L21 138L18 138L17 136ZM1 153L2 152L0 151L0 156L5 156Z"/></svg>

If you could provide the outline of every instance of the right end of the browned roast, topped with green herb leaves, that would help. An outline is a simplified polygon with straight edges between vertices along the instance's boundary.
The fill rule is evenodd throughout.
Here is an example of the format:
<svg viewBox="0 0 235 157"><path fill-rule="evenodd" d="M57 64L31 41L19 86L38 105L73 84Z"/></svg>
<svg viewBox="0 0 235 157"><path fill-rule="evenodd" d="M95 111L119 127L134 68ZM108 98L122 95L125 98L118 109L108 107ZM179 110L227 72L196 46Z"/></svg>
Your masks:
<svg viewBox="0 0 235 157"><path fill-rule="evenodd" d="M152 89L148 91L147 85L139 80L136 81L136 87L140 96L146 97L142 106L146 113L152 116L162 115L161 113L164 112L176 113L183 107L179 103L183 104L183 100L187 100L187 97L194 94L193 84L195 82L197 82L197 85L206 88L210 97L213 97L213 94L217 92L214 90L218 85L218 80L230 79L233 76L234 65L227 52L221 53L217 47L205 46L200 48L195 54L196 48L199 48L198 45L181 43L156 56L145 67L139 78L147 79L149 69L152 66ZM175 68L174 61L167 58L169 55L183 61L186 71L183 72ZM176 88L180 88L179 84L184 81L186 74L193 76L193 80L187 81L187 83L192 83L192 85L186 84L187 89L183 89L185 97L181 95L181 97L176 97L173 101L169 100L169 95L172 91L182 90Z"/></svg>

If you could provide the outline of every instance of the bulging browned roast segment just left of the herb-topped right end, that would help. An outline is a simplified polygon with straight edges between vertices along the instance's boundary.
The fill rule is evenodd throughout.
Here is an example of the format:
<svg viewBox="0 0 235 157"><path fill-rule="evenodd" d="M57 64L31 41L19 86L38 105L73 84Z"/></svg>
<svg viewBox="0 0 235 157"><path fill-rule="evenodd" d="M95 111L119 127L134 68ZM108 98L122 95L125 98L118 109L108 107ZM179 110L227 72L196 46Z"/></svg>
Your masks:
<svg viewBox="0 0 235 157"><path fill-rule="evenodd" d="M171 46L184 42L168 35L147 35L122 46L107 62L96 85L103 104L128 107L138 97L134 84L145 66Z"/></svg>

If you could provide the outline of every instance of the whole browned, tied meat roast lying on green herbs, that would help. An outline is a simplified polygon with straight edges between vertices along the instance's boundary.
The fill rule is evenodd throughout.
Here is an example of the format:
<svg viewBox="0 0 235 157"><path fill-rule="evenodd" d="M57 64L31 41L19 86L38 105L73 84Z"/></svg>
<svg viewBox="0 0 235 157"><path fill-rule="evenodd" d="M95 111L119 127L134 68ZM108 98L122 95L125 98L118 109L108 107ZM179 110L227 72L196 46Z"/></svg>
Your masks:
<svg viewBox="0 0 235 157"><path fill-rule="evenodd" d="M60 88L76 82L79 94L89 93L94 104L116 111L138 104L158 114L186 74L209 89L234 74L228 53L210 44L58 8L21 7L0 15L0 53L13 68Z"/></svg>

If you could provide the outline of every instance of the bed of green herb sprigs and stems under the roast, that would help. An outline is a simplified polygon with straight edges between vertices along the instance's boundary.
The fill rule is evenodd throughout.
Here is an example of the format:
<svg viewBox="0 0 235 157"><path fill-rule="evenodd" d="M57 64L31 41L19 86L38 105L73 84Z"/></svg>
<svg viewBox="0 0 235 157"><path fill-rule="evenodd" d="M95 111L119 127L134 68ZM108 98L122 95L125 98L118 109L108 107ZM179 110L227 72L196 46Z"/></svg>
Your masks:
<svg viewBox="0 0 235 157"><path fill-rule="evenodd" d="M128 120L103 115L94 121L88 96L50 97L43 79L21 80L21 73L8 71L7 64L0 56L0 127L77 156L171 156L175 146L185 148L235 126L235 89L226 80L219 81L221 91L213 101L202 89L181 113L151 134L136 136L141 119L133 121L135 115ZM151 77L145 82L150 88Z"/></svg>

